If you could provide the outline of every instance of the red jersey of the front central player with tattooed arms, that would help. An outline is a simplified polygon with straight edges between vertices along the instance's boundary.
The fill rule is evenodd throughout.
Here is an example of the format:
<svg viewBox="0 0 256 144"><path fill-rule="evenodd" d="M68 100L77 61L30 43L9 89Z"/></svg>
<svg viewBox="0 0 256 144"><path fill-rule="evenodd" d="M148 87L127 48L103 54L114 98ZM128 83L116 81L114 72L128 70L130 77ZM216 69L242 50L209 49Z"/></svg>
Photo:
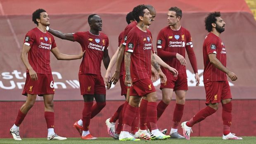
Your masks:
<svg viewBox="0 0 256 144"><path fill-rule="evenodd" d="M137 26L127 36L126 52L132 52L130 73L133 82L151 78L152 35L149 30L144 32Z"/></svg>

